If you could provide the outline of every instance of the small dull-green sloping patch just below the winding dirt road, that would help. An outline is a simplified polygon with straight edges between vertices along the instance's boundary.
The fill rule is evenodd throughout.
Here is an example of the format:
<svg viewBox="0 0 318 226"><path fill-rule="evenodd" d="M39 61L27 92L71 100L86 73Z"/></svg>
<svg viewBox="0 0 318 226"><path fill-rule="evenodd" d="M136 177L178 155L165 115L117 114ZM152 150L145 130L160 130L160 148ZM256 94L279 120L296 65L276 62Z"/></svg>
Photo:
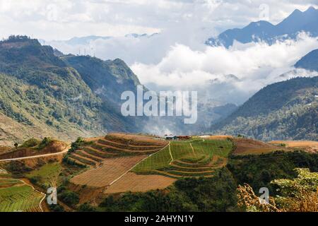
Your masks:
<svg viewBox="0 0 318 226"><path fill-rule="evenodd" d="M36 184L48 188L57 185L57 179L60 172L61 165L58 162L54 162L31 171L26 175L26 177L33 180L33 182L35 182Z"/></svg>

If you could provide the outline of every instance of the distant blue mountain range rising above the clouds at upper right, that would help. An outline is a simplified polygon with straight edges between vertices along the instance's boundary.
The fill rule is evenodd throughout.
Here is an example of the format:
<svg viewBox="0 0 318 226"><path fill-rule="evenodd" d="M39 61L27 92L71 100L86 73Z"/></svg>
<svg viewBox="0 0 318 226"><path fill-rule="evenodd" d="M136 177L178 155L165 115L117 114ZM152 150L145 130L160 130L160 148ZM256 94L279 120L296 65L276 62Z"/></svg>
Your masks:
<svg viewBox="0 0 318 226"><path fill-rule="evenodd" d="M307 32L312 37L318 36L318 9L310 7L307 11L296 9L281 23L273 25L260 20L249 23L245 28L225 30L218 37L211 37L206 44L211 46L223 45L228 48L236 41L241 43L263 41L273 44L277 40L295 39L300 32Z"/></svg>

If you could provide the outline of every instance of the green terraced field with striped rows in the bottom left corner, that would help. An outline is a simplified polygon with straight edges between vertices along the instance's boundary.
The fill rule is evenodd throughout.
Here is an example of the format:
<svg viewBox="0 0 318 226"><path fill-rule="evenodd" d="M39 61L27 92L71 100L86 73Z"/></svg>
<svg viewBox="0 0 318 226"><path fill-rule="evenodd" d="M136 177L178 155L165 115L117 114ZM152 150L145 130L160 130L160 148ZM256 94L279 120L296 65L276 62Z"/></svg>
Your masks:
<svg viewBox="0 0 318 226"><path fill-rule="evenodd" d="M43 194L16 179L0 178L0 212L41 211Z"/></svg>

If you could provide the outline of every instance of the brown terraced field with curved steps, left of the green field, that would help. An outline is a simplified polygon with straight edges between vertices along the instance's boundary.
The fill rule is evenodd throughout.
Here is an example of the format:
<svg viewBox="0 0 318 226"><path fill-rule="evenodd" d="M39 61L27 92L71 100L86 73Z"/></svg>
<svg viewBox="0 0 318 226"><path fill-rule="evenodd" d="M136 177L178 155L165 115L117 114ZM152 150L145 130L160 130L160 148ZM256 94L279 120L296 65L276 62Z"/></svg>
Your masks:
<svg viewBox="0 0 318 226"><path fill-rule="evenodd" d="M73 177L71 182L92 187L110 186L117 179L126 178L125 174L129 169L148 155L162 150L166 145L166 141L157 140L151 136L119 133L89 138L78 150L67 157L78 165L88 167L86 172ZM143 184L146 183L146 176L139 179ZM150 184L153 183L152 179L152 177L148 179Z"/></svg>

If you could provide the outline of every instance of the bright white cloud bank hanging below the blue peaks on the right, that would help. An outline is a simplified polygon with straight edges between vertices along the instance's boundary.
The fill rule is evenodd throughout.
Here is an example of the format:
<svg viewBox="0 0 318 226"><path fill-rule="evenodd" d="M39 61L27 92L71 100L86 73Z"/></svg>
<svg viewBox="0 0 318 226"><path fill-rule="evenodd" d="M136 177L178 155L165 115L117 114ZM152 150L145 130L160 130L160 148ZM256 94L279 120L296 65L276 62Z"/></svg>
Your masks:
<svg viewBox="0 0 318 226"><path fill-rule="evenodd" d="M208 89L212 96L232 98L235 102L276 81L294 76L279 77L293 70L293 65L312 49L318 48L317 38L300 34L298 40L286 40L269 45L266 43L236 43L231 49L206 47L202 52L176 44L158 64L136 63L131 66L141 83L155 89ZM238 80L228 75L235 75ZM303 73L302 75L307 75ZM312 75L312 73L310 73ZM155 84L155 85L154 85ZM236 94L235 94L236 93Z"/></svg>

